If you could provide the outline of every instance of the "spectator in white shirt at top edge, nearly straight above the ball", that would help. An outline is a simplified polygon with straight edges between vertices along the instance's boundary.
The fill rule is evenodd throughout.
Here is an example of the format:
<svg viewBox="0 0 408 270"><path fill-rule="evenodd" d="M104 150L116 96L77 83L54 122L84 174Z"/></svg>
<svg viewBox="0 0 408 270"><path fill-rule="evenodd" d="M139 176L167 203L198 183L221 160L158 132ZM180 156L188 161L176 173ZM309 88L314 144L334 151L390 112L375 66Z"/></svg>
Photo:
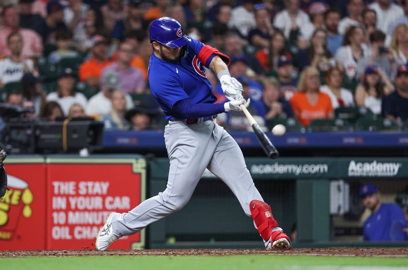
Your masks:
<svg viewBox="0 0 408 270"><path fill-rule="evenodd" d="M298 36L310 39L315 30L309 15L299 9L299 0L285 0L286 8L276 14L273 26L282 32L288 39L291 32L298 31Z"/></svg>

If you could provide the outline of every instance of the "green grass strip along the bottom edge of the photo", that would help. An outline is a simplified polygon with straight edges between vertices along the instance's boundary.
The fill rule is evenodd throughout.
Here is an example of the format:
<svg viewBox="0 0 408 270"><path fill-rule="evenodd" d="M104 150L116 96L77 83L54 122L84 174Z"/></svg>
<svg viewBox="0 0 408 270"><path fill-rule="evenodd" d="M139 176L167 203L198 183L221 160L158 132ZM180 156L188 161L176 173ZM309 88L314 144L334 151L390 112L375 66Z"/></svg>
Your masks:
<svg viewBox="0 0 408 270"><path fill-rule="evenodd" d="M289 255L238 256L102 256L2 258L10 270L403 270L408 258Z"/></svg>

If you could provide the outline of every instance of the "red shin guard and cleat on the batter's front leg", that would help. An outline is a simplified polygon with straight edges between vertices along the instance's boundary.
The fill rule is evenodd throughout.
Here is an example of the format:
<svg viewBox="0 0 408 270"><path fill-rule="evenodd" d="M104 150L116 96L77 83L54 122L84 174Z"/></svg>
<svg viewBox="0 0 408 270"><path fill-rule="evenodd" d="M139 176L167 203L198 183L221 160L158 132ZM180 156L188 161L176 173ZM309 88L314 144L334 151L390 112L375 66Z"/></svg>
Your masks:
<svg viewBox="0 0 408 270"><path fill-rule="evenodd" d="M253 223L264 240L265 248L290 249L290 238L278 227L273 218L271 207L259 200L252 200L249 206Z"/></svg>

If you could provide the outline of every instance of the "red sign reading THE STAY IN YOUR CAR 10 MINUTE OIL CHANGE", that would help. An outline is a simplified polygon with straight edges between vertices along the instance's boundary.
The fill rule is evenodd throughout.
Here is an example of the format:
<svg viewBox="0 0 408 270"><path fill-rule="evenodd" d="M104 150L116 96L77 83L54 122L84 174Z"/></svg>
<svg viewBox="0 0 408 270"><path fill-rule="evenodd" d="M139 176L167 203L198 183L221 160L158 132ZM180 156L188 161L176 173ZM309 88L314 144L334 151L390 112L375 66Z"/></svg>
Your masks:
<svg viewBox="0 0 408 270"><path fill-rule="evenodd" d="M47 164L47 249L94 249L111 212L127 212L144 199L144 159L50 159ZM110 249L144 246L144 232Z"/></svg>

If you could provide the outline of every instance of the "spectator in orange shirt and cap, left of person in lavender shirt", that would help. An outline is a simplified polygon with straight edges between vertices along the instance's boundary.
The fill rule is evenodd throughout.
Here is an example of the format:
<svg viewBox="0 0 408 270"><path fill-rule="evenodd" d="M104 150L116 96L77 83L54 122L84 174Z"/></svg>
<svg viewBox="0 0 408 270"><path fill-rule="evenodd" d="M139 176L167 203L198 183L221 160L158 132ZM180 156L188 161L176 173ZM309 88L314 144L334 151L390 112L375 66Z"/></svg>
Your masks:
<svg viewBox="0 0 408 270"><path fill-rule="evenodd" d="M108 43L103 36L93 37L91 48L92 58L83 63L79 69L80 80L89 86L99 86L99 76L102 69L111 62L107 59Z"/></svg>

